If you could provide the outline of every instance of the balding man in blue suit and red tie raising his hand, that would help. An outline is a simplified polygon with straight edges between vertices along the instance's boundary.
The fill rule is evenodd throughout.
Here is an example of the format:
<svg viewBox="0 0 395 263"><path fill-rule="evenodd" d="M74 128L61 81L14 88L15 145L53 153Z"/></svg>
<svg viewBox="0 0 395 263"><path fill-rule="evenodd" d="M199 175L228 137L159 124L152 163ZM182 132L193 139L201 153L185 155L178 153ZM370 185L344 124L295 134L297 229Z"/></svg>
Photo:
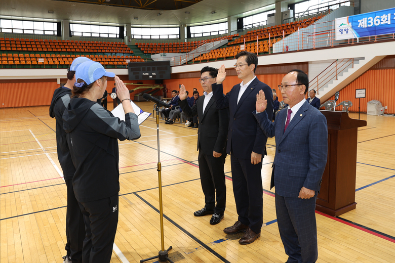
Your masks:
<svg viewBox="0 0 395 263"><path fill-rule="evenodd" d="M304 99L307 74L289 72L279 85L289 106L267 117L265 94L256 99L256 119L267 137L275 136L271 186L275 210L288 263L313 263L318 258L315 200L327 163L328 128L325 116Z"/></svg>

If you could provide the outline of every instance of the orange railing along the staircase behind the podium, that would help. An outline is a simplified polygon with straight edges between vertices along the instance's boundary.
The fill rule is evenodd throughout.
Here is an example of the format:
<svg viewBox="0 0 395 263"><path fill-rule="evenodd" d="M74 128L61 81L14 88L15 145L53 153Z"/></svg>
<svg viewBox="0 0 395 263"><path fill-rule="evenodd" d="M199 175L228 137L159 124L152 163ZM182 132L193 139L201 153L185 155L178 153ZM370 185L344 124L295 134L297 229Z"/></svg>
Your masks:
<svg viewBox="0 0 395 263"><path fill-rule="evenodd" d="M331 80L337 80L337 77L340 73L342 73L345 69L354 67L354 59L341 59L340 61L337 59L331 65L329 65L326 69L324 69L317 77L310 80L308 84L309 90L315 90L317 94L320 94L320 89L325 86Z"/></svg>

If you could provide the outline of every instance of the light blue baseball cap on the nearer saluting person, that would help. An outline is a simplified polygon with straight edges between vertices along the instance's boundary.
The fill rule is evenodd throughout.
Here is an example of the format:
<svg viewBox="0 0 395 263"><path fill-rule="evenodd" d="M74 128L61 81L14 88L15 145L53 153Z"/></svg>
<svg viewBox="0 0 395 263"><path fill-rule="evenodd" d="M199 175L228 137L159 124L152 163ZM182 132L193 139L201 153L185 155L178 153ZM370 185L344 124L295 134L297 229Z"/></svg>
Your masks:
<svg viewBox="0 0 395 263"><path fill-rule="evenodd" d="M75 79L81 78L88 85L102 76L114 77L115 73L107 72L99 62L92 60L80 64L75 71Z"/></svg>

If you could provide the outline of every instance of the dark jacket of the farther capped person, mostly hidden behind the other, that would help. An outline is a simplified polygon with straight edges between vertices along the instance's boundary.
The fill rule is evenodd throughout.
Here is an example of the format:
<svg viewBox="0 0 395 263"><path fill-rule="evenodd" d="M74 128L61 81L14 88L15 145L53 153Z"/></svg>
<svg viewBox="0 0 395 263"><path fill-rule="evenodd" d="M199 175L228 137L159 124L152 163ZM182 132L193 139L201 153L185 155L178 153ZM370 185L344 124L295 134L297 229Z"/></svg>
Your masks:
<svg viewBox="0 0 395 263"><path fill-rule="evenodd" d="M58 159L63 170L64 180L73 178L75 168L67 145L66 133L63 129L63 112L70 101L71 90L61 86L55 90L50 106L50 116L56 120L56 148Z"/></svg>

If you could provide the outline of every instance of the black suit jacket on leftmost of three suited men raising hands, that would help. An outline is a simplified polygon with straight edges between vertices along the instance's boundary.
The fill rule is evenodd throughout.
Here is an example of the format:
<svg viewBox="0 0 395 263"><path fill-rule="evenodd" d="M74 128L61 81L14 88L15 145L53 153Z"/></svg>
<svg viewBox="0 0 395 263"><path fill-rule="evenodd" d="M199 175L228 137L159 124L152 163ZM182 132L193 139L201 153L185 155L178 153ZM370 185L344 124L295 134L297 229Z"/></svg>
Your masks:
<svg viewBox="0 0 395 263"><path fill-rule="evenodd" d="M186 100L179 100L178 104L188 118L195 115L199 117L198 151L211 156L213 151L225 154L229 110L217 110L214 97L211 97L203 113L204 100L205 96L201 96L192 107L189 107Z"/></svg>

